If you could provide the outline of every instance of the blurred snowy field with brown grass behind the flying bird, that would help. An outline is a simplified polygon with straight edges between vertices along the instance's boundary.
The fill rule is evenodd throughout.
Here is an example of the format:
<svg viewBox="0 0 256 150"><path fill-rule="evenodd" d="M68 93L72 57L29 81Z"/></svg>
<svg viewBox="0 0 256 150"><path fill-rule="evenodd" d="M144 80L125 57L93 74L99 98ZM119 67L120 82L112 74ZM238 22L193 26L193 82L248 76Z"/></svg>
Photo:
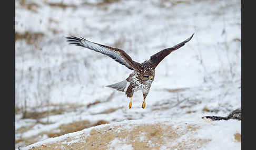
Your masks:
<svg viewBox="0 0 256 150"><path fill-rule="evenodd" d="M202 123L202 116L227 116L241 108L241 1L15 2L16 147L74 122ZM155 69L146 108L142 92L135 92L130 110L124 93L105 85L126 79L131 70L65 39L82 36L143 62L193 33ZM241 134L241 121L227 122L217 123L219 129L228 124Z"/></svg>

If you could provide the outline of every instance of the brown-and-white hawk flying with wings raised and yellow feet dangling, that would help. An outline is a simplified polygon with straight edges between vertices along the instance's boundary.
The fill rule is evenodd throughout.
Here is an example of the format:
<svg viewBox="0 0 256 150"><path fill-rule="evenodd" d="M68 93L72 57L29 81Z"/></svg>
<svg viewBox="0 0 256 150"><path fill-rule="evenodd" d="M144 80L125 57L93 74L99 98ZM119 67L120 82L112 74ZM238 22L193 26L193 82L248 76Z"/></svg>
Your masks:
<svg viewBox="0 0 256 150"><path fill-rule="evenodd" d="M77 38L71 36L66 38L68 39L67 41L70 42L70 44L103 53L104 55L107 55L114 59L116 62L119 62L125 67L133 70L133 72L125 80L115 84L107 85L106 87L124 92L125 95L131 99L129 103L129 109L132 108L133 93L135 91L142 90L144 97L142 108L144 109L146 106L146 96L150 91L152 82L154 81L156 66L171 52L181 48L185 45L186 42L190 41L193 35L171 48L166 48L155 53L155 55L152 55L149 60L146 60L143 63L135 62L129 55L127 55L125 51L118 48L97 44L95 42L88 41L83 37Z"/></svg>

